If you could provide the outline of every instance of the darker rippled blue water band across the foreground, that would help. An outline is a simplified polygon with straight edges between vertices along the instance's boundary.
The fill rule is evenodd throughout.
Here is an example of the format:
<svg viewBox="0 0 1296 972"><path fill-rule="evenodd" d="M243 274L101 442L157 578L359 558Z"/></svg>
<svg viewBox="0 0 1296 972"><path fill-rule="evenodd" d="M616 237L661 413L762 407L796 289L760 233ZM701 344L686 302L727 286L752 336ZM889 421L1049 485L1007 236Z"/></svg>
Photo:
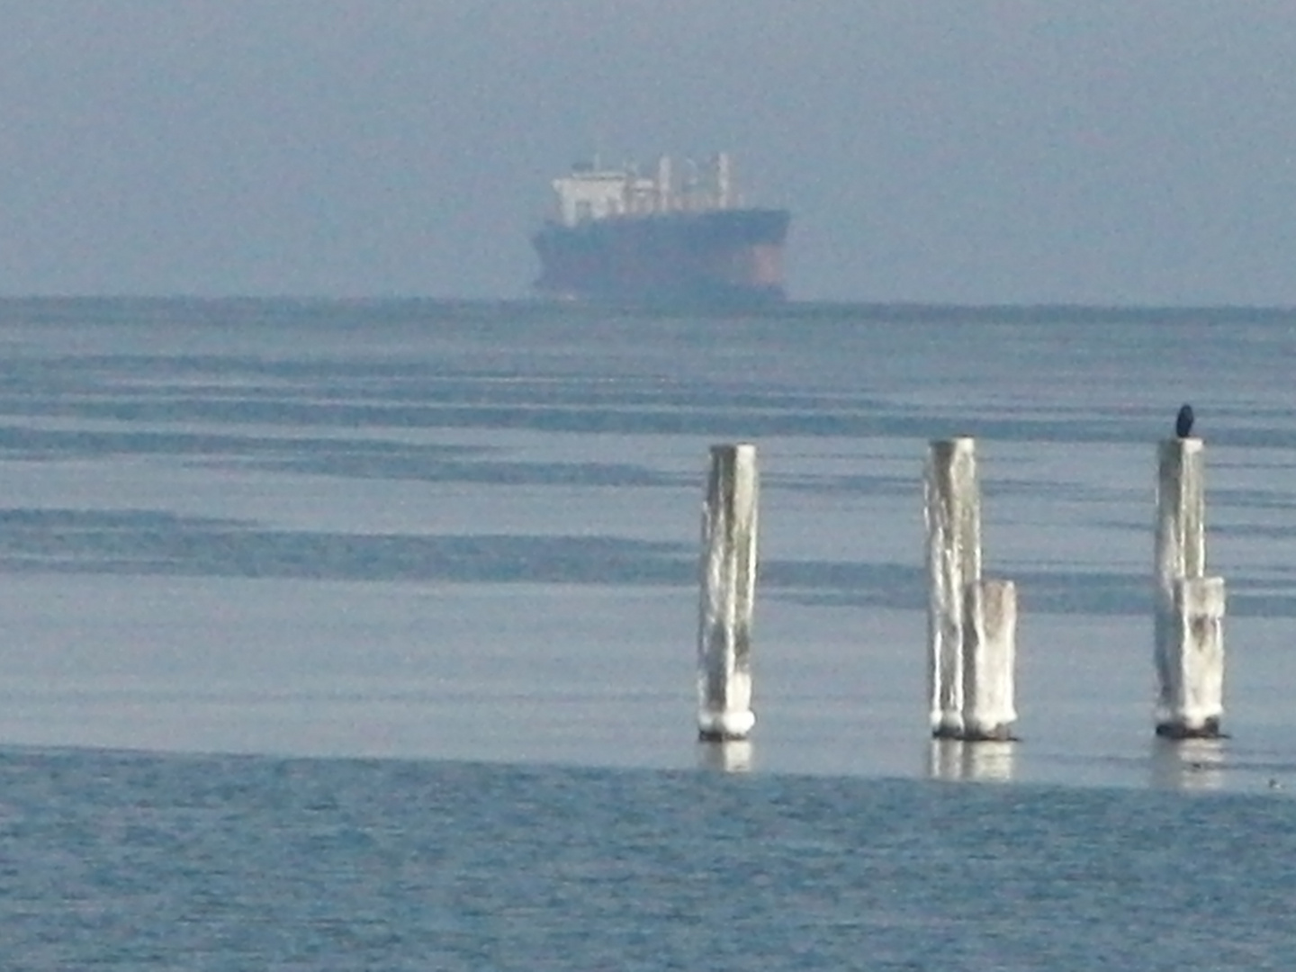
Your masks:
<svg viewBox="0 0 1296 972"><path fill-rule="evenodd" d="M6 968L1290 968L1290 800L9 753Z"/></svg>

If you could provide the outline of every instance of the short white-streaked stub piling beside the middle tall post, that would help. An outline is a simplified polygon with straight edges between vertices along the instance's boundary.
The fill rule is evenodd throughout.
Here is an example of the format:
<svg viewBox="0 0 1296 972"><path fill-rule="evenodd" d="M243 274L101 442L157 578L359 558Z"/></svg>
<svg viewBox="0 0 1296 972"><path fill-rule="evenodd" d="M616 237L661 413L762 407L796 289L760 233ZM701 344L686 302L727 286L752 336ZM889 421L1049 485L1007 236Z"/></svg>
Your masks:
<svg viewBox="0 0 1296 972"><path fill-rule="evenodd" d="M1012 581L973 581L964 587L963 739L1012 739L1016 632Z"/></svg>

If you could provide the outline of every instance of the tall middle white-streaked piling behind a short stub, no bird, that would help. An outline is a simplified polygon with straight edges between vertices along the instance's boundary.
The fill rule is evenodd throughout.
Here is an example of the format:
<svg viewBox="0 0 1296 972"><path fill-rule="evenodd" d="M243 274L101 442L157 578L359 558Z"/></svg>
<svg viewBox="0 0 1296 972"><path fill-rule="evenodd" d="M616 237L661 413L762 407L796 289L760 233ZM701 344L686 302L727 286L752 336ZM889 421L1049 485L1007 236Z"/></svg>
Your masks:
<svg viewBox="0 0 1296 972"><path fill-rule="evenodd" d="M932 734L960 737L964 588L981 579L981 496L975 439L962 437L931 443L924 513Z"/></svg>

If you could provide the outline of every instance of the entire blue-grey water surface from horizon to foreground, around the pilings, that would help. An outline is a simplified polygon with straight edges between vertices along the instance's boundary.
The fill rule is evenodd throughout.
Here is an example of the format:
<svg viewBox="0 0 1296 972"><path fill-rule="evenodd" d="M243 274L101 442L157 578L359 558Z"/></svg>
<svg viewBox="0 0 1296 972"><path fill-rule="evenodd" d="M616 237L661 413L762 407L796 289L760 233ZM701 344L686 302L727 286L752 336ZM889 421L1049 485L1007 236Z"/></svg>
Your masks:
<svg viewBox="0 0 1296 972"><path fill-rule="evenodd" d="M0 301L0 968L1290 968L1296 314ZM1153 740L1185 400L1225 728ZM927 739L978 437L1013 744ZM756 442L750 744L693 739Z"/></svg>

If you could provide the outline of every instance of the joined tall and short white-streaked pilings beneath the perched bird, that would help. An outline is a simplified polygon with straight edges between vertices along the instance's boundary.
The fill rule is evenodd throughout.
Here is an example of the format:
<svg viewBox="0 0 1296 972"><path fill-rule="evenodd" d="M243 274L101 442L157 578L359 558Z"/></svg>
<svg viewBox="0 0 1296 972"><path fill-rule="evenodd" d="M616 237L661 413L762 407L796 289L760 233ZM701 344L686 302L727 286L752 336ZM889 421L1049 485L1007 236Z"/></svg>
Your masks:
<svg viewBox="0 0 1296 972"><path fill-rule="evenodd" d="M1156 732L1220 735L1223 714L1222 578L1205 577L1204 454L1199 438L1160 443L1156 474L1153 660Z"/></svg>

